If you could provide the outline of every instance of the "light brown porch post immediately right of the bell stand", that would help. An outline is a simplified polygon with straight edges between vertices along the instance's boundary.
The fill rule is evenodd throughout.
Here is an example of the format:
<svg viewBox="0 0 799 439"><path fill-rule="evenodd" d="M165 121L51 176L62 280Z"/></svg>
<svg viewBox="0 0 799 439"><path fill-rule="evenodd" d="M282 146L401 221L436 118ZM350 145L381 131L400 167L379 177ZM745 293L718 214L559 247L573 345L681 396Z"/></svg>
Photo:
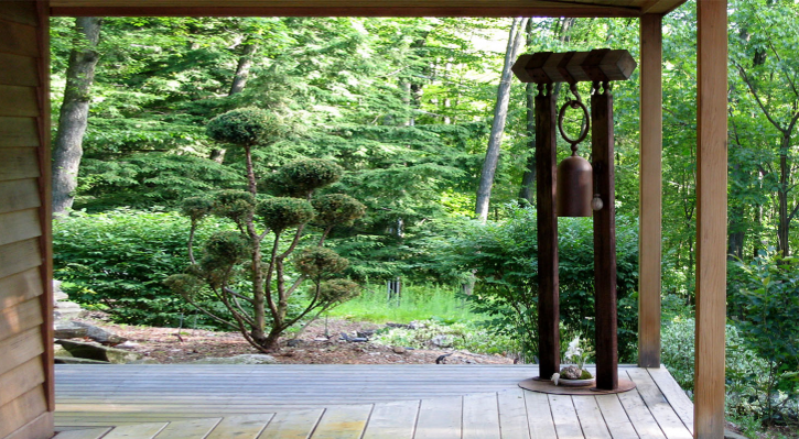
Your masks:
<svg viewBox="0 0 799 439"><path fill-rule="evenodd" d="M662 234L662 18L640 20L638 365L660 367Z"/></svg>

